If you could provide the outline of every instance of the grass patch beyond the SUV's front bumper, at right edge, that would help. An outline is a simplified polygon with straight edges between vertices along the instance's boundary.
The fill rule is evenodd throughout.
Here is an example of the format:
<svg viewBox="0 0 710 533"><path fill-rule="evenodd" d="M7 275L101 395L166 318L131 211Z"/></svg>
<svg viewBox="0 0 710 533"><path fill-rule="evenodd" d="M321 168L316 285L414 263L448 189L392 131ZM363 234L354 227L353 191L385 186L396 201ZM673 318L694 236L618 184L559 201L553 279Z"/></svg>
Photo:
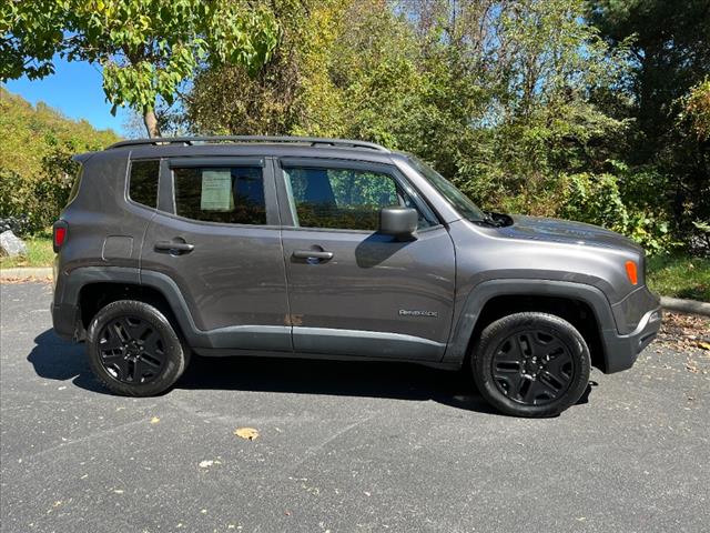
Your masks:
<svg viewBox="0 0 710 533"><path fill-rule="evenodd" d="M710 302L710 259L657 255L646 269L648 285L659 294Z"/></svg>

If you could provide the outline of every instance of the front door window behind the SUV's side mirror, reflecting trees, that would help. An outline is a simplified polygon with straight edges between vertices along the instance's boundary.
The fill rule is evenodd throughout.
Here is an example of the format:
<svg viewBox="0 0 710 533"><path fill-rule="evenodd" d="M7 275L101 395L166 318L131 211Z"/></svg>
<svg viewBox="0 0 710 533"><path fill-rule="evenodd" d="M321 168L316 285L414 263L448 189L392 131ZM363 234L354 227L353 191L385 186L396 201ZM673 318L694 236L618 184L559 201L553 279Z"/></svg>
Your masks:
<svg viewBox="0 0 710 533"><path fill-rule="evenodd" d="M296 225L376 231L387 207L417 209L390 174L341 168L284 169ZM417 210L418 211L418 210ZM433 225L419 214L419 228Z"/></svg>

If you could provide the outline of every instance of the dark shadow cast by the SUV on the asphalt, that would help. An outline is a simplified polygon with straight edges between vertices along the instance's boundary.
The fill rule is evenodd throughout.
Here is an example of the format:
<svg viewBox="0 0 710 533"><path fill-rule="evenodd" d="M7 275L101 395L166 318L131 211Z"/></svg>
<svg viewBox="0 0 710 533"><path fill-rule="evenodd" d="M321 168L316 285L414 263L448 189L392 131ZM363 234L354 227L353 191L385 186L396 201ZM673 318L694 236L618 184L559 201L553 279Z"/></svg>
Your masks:
<svg viewBox="0 0 710 533"><path fill-rule="evenodd" d="M83 344L65 342L52 330L34 342L28 361L39 376L72 380L81 389L110 394L93 378ZM578 403L587 403L592 385L596 383L590 383ZM476 391L467 372L408 363L193 355L176 388L434 400L457 409L499 414Z"/></svg>

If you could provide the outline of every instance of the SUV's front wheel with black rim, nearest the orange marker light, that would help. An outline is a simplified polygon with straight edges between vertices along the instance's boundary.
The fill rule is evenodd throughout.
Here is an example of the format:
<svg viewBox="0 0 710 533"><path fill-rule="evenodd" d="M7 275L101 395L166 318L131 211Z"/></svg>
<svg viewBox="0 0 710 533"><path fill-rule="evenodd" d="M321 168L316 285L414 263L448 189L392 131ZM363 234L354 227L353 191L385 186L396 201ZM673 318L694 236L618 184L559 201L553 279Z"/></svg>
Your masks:
<svg viewBox="0 0 710 533"><path fill-rule="evenodd" d="M546 313L504 316L480 333L471 358L483 396L513 416L555 416L587 390L589 348L569 322Z"/></svg>

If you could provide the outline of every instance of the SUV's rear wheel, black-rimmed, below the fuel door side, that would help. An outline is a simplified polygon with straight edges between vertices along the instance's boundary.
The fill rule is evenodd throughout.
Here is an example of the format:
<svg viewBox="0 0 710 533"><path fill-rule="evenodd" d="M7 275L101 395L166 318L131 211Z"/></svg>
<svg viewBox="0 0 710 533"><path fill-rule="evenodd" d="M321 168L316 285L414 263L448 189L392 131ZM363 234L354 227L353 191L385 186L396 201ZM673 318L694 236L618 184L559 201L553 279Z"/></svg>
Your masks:
<svg viewBox="0 0 710 533"><path fill-rule="evenodd" d="M153 305L119 300L101 309L87 333L89 365L109 390L152 396L182 375L190 351L165 315Z"/></svg>

